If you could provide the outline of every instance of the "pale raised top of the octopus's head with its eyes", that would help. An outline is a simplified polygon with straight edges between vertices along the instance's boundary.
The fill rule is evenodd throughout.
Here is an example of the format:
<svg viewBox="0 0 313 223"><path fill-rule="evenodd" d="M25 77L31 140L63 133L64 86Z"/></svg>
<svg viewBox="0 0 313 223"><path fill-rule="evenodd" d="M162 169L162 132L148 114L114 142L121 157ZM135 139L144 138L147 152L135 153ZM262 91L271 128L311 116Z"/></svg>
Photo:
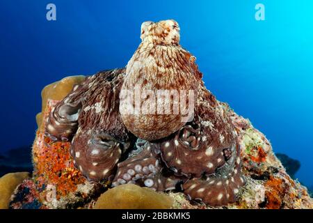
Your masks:
<svg viewBox="0 0 313 223"><path fill-rule="evenodd" d="M141 40L154 45L179 45L179 25L175 20L160 22L143 22L141 25Z"/></svg>

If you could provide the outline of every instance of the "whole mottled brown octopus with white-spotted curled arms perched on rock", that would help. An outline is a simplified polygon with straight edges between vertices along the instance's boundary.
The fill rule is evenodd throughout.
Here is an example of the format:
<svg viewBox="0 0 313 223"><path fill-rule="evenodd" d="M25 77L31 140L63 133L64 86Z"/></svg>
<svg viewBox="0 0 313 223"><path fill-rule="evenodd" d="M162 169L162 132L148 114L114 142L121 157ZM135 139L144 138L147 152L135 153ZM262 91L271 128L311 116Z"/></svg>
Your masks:
<svg viewBox="0 0 313 223"><path fill-rule="evenodd" d="M144 22L141 39L127 68L98 72L58 102L47 137L72 141L75 167L90 181L182 191L209 206L234 203L245 179L230 109L205 88L195 57L179 45L177 22ZM192 89L193 116L125 113L122 91L136 83Z"/></svg>

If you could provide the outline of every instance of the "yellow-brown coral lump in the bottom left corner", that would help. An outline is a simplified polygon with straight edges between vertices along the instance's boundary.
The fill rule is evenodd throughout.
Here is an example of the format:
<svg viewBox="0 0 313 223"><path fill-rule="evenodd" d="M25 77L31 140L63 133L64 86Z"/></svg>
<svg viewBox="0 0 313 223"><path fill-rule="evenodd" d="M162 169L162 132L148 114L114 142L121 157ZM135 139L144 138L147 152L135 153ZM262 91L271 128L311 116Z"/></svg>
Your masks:
<svg viewBox="0 0 313 223"><path fill-rule="evenodd" d="M28 177L28 172L21 172L6 174L0 178L0 209L8 209L15 188Z"/></svg>

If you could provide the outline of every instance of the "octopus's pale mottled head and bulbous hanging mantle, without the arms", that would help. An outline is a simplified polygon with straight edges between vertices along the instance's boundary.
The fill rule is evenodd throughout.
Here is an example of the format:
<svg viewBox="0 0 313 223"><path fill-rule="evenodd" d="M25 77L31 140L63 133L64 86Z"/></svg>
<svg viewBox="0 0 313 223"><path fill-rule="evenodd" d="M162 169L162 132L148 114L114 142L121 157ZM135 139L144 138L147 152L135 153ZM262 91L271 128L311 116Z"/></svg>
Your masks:
<svg viewBox="0 0 313 223"><path fill-rule="evenodd" d="M179 45L177 22L145 22L141 38L143 42L127 64L122 90L138 86L142 90L192 90L196 93L197 84L191 66L194 57ZM142 100L142 104L148 101ZM172 105L168 100L163 103ZM124 111L126 103L121 100L120 105L120 110ZM167 137L186 123L182 120L186 116L181 111L179 114L121 114L128 130L149 141Z"/></svg>

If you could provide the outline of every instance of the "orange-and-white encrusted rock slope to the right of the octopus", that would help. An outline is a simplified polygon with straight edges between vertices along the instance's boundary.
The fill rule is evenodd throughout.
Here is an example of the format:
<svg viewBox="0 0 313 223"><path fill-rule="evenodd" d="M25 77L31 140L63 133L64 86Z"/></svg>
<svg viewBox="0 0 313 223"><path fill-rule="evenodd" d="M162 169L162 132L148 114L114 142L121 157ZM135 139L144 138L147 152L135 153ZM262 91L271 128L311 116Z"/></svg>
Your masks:
<svg viewBox="0 0 313 223"><path fill-rule="evenodd" d="M232 120L239 132L243 174L248 180L230 208L313 208L307 190L288 176L264 134L236 114Z"/></svg>

